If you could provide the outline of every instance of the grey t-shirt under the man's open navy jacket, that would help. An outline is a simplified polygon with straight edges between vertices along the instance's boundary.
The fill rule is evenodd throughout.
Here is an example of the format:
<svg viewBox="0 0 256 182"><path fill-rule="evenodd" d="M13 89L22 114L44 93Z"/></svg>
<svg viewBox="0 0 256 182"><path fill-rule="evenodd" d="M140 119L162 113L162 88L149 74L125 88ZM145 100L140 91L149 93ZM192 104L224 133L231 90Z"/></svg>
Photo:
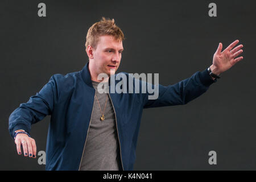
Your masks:
<svg viewBox="0 0 256 182"><path fill-rule="evenodd" d="M117 126L115 124L115 113L112 102L108 93L99 93L97 86L99 82L92 81L94 89L96 89L96 96L94 97L92 118L90 121L88 137L84 148L84 155L82 156L81 171L110 171L120 170L120 153L119 142L117 135ZM104 88L108 90L108 88ZM102 90L102 89L101 89ZM99 91L101 91L99 90ZM107 98L107 101L106 101ZM101 107L104 111L105 103L106 109L104 111L105 120L101 121Z"/></svg>

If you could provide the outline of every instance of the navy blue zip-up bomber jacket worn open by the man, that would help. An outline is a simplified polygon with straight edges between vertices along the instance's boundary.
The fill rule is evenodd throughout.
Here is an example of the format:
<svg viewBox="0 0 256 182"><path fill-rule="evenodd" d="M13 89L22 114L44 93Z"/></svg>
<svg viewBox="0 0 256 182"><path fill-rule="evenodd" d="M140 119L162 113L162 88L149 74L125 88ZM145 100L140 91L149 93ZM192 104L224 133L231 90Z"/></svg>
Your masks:
<svg viewBox="0 0 256 182"><path fill-rule="evenodd" d="M35 96L20 104L9 117L9 132L14 137L15 130L23 129L30 133L32 124L41 121L46 115L51 115L47 135L46 170L80 169L96 92L92 86L88 65L86 63L81 71L65 76L53 75ZM123 74L130 76L128 73ZM142 82L139 80L140 86ZM206 92L213 82L216 80L213 81L205 69L174 85L159 84L159 96L155 100L148 99L148 92L109 92L114 107L122 169L133 169L144 108L187 104ZM109 89L111 86L109 84ZM151 86L154 88L155 85Z"/></svg>

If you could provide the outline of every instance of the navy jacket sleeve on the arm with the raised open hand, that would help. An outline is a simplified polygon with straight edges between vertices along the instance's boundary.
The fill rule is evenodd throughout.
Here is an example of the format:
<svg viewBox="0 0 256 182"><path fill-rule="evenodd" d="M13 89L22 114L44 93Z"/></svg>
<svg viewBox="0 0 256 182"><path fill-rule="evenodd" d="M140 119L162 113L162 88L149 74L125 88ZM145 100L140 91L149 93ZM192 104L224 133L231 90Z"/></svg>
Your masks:
<svg viewBox="0 0 256 182"><path fill-rule="evenodd" d="M194 73L191 77L177 82L174 85L159 85L158 98L150 100L148 97L150 94L147 93L144 98L143 108L187 104L189 101L201 96L201 94L206 92L209 86L216 81L216 79L212 80L209 72L205 69L202 72ZM157 85L150 86L155 88Z"/></svg>

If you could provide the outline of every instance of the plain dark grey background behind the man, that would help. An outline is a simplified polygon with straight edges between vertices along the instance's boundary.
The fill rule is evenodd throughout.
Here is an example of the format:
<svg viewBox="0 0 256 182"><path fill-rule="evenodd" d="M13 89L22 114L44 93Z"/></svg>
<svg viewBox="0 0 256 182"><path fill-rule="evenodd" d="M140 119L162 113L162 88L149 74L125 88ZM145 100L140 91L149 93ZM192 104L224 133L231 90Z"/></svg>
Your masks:
<svg viewBox="0 0 256 182"><path fill-rule="evenodd" d="M39 18L38 3L46 3ZM217 4L217 17L208 5ZM10 114L55 73L88 61L88 28L114 18L125 34L121 65L127 73L159 73L175 84L212 64L218 43L239 39L244 59L222 73L203 96L183 106L145 109L135 170L255 170L255 1L13 1L1 0L2 170L44 170L37 159L16 154ZM50 116L32 126L38 151L46 150ZM217 152L210 166L208 152Z"/></svg>

